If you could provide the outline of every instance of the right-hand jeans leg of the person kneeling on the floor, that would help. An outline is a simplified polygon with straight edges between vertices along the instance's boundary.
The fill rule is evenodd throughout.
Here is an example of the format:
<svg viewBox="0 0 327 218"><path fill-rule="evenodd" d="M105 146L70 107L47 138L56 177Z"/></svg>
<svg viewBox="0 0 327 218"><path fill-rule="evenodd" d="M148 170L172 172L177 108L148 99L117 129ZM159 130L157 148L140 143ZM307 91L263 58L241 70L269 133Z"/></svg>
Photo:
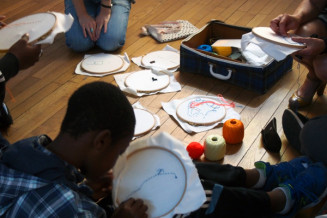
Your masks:
<svg viewBox="0 0 327 218"><path fill-rule="evenodd" d="M96 44L105 51L115 51L125 44L126 30L129 13L131 10L130 0L112 0L110 20L107 32L101 31Z"/></svg>

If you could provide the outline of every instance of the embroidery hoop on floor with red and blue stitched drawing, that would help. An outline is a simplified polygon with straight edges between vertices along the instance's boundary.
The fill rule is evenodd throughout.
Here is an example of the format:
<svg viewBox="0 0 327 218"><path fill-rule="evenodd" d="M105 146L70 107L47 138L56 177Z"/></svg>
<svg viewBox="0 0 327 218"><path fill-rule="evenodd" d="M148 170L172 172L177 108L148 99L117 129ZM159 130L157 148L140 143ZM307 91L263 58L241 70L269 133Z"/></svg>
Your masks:
<svg viewBox="0 0 327 218"><path fill-rule="evenodd" d="M197 99L199 99L199 100L197 101ZM208 101L208 103L203 103L206 101ZM192 102L195 102L193 108L197 108L197 110L194 109L193 111L189 111L189 108L191 108ZM214 102L214 103L211 103L211 102ZM214 113L212 113L208 110L208 109L210 109L210 107L213 104L216 104L218 106L218 107L214 108L216 111L212 111ZM221 106L219 104L221 104L219 101L212 99L210 97L190 98L190 99L183 101L182 103L180 103L177 106L176 115L183 122L186 122L193 126L210 126L210 125L222 120L226 115L225 107ZM191 112L194 112L194 113L191 113ZM210 112L210 114L208 114L208 112ZM210 117L207 115L210 115ZM204 118L206 118L206 119L204 119Z"/></svg>

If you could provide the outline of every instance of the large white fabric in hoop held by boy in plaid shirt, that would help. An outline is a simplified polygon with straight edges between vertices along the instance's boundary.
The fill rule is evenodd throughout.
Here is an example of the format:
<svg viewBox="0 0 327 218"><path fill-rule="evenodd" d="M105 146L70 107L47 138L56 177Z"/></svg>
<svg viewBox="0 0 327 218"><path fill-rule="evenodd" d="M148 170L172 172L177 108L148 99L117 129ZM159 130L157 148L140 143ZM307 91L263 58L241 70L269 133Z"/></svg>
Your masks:
<svg viewBox="0 0 327 218"><path fill-rule="evenodd" d="M185 146L167 133L136 140L113 169L116 206L141 198L149 217L172 217L198 209L206 200Z"/></svg>

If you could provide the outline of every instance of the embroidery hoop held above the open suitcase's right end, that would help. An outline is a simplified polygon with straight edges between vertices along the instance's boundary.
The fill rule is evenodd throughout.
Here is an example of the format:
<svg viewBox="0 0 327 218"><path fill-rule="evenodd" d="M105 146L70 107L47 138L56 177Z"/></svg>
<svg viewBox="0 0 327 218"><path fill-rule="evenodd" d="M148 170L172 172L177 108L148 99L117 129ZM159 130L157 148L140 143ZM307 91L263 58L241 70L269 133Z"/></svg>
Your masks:
<svg viewBox="0 0 327 218"><path fill-rule="evenodd" d="M305 48L306 45L294 42L291 37L276 34L270 27L254 27L252 33L264 40L292 48Z"/></svg>

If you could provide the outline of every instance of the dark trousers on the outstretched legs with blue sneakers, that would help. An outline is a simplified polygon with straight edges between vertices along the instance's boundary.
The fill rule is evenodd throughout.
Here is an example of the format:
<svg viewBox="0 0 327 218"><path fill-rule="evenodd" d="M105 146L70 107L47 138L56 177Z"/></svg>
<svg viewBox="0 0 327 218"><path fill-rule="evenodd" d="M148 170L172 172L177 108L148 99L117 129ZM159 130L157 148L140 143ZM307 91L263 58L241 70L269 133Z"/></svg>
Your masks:
<svg viewBox="0 0 327 218"><path fill-rule="evenodd" d="M223 185L222 192L211 214L199 209L192 218L271 217L270 198L264 191L244 188L246 174L243 168L217 163L195 163L205 190L214 184Z"/></svg>

